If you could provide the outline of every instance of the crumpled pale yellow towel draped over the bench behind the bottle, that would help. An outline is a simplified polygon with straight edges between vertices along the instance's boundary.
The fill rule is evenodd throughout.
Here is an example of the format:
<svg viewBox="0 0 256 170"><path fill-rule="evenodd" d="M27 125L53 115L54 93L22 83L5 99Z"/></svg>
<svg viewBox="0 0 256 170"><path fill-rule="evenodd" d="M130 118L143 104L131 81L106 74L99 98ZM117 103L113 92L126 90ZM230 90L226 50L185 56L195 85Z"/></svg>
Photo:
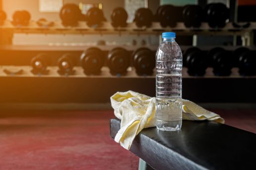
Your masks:
<svg viewBox="0 0 256 170"><path fill-rule="evenodd" d="M129 150L133 139L143 128L155 127L155 97L127 91L115 93L110 100L115 116L121 120L121 128L115 141ZM224 124L224 119L219 115L189 100L182 101L183 120L208 120Z"/></svg>

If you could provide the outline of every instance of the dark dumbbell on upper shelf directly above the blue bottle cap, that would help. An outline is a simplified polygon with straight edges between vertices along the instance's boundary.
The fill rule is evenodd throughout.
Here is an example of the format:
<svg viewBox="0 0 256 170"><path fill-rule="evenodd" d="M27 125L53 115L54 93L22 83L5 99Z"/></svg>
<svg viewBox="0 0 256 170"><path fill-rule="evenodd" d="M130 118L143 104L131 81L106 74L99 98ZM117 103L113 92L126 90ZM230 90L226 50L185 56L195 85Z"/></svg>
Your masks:
<svg viewBox="0 0 256 170"><path fill-rule="evenodd" d="M157 8L156 19L162 27L175 27L177 25L177 13L175 6L162 5Z"/></svg>

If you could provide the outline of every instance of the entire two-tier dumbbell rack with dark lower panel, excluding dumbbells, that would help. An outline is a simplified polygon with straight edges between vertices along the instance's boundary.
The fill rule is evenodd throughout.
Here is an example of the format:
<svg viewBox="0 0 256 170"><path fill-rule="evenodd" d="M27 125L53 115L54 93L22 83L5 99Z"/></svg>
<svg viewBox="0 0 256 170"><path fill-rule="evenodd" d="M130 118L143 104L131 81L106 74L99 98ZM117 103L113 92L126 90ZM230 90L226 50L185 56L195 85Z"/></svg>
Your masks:
<svg viewBox="0 0 256 170"><path fill-rule="evenodd" d="M178 23L175 28L162 28L159 23L153 23L150 28L137 28L134 23L128 24L126 28L113 28L109 22L104 22L101 27L90 28L85 22L79 22L77 27L64 27L60 21L55 22L53 27L39 27L36 22L31 21L29 26L14 27L10 21L5 21L5 24L0 26L2 35L0 44L10 44L8 48L17 49L17 46L11 45L15 33L159 36L162 32L174 31L179 35L240 35L244 37L243 44L250 45L253 30L256 30L256 23L251 23L251 26L245 29L234 28L228 23L226 27L216 30L209 28L207 23L202 23L198 29L190 29L183 23ZM23 46L19 47L24 49ZM41 50L51 50L51 48L55 47L48 46L47 49ZM64 46L63 49L67 48ZM83 46L78 48L80 51L86 49ZM109 47L102 46L102 48ZM128 74L121 77L111 75L107 67L104 67L98 76L86 76L79 66L74 68L75 74L71 76L59 75L56 66L49 67L49 75L33 75L30 66L15 66L15 69L22 69L20 75L7 75L3 72L4 69L11 70L12 67L10 65L0 67L0 82L4 82L0 84L0 94L4 96L0 98L0 103L108 103L109 97L116 91L128 89L155 96L154 74L137 76L133 68L128 68ZM208 68L205 76L192 77L188 76L185 68L183 98L194 102L256 102L256 77L239 76L236 68L232 71L230 77L217 77L213 76L211 68Z"/></svg>

